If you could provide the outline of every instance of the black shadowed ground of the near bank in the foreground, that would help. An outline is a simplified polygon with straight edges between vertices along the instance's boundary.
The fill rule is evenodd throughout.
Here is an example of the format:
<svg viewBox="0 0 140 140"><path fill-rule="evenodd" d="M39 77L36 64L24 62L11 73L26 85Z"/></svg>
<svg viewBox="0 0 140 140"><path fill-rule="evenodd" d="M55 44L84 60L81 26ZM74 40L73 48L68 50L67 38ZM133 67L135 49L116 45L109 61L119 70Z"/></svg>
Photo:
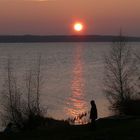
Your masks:
<svg viewBox="0 0 140 140"><path fill-rule="evenodd" d="M58 123L51 127L0 135L1 140L139 140L140 118L99 119L96 130L86 125L65 125Z"/></svg>

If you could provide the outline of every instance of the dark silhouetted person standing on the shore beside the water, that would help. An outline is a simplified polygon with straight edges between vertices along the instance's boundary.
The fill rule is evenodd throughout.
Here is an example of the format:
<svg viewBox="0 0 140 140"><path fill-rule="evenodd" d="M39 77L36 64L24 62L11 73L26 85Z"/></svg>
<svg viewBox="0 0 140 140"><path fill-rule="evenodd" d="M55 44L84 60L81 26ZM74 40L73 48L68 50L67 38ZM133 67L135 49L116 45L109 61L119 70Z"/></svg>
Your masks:
<svg viewBox="0 0 140 140"><path fill-rule="evenodd" d="M92 100L90 104L91 104L90 110L91 128L96 129L95 120L97 119L97 108L94 100Z"/></svg>

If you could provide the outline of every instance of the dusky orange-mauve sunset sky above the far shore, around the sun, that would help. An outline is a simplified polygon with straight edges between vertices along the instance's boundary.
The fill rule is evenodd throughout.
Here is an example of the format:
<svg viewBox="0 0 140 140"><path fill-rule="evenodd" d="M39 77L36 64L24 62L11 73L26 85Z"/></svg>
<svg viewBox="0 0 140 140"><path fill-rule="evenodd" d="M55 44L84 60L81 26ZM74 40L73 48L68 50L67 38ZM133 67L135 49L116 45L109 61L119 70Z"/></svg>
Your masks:
<svg viewBox="0 0 140 140"><path fill-rule="evenodd" d="M140 0L0 0L0 34L82 34L140 36Z"/></svg>

